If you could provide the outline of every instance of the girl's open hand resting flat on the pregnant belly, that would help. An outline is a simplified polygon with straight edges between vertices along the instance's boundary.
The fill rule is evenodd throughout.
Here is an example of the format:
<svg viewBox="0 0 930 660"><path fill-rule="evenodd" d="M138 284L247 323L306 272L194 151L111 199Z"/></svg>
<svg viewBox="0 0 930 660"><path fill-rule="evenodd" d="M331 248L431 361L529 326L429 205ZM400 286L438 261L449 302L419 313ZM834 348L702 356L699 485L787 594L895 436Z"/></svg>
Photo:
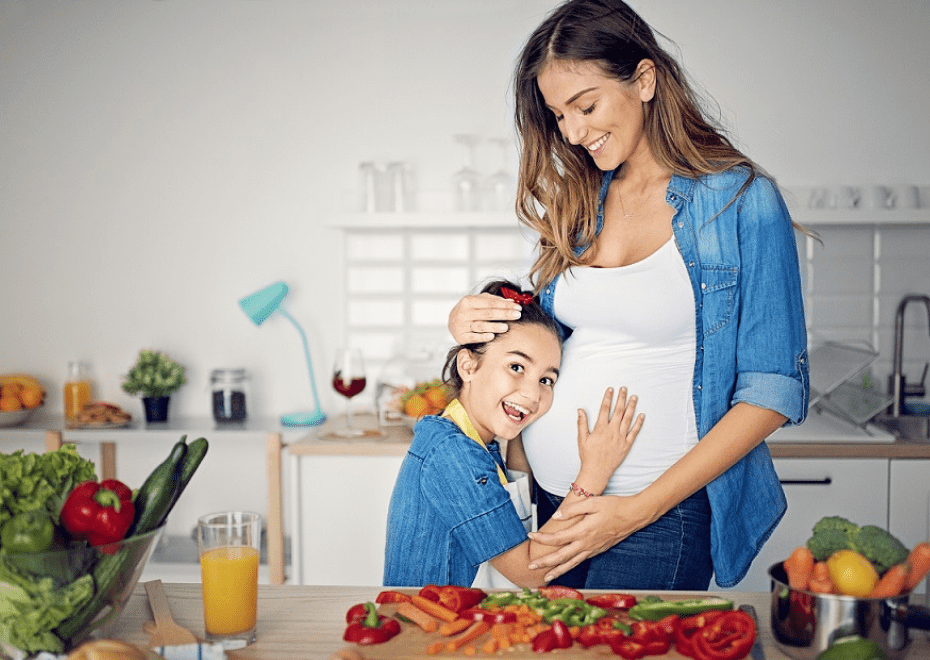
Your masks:
<svg viewBox="0 0 930 660"><path fill-rule="evenodd" d="M604 392L593 430L589 430L587 413L578 410L581 472L578 473L577 482L586 490L598 494L626 458L645 419L645 415L636 414L636 397L627 398L625 387L618 391L617 402L611 410L613 393L612 387Z"/></svg>

